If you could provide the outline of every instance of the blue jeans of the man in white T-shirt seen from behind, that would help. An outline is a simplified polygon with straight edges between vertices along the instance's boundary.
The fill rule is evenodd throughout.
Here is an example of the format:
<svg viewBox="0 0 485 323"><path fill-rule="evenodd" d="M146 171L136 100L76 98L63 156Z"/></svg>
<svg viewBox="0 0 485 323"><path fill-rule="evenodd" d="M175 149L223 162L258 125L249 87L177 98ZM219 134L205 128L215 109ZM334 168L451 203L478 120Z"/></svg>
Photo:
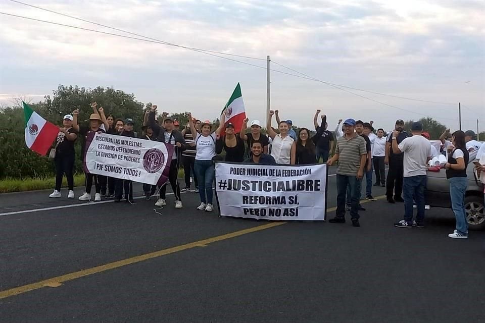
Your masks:
<svg viewBox="0 0 485 323"><path fill-rule="evenodd" d="M413 199L416 201L417 214L416 222L424 222L424 187L426 186L426 175L405 177L403 180L404 197L404 220L409 225L413 224Z"/></svg>

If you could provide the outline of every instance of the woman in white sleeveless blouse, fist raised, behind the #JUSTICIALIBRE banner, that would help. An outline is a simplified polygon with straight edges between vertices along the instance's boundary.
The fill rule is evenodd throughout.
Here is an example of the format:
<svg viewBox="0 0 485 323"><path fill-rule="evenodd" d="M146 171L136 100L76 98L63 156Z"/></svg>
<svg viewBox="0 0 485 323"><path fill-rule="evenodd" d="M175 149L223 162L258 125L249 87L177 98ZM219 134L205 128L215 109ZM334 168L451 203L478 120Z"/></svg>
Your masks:
<svg viewBox="0 0 485 323"><path fill-rule="evenodd" d="M295 140L288 134L289 125L286 121L281 121L278 125L279 134L277 134L273 128L271 128L273 115L274 111L271 110L266 125L268 136L273 139L271 156L273 156L276 164L295 165L295 160L292 160L291 156L295 155L296 144Z"/></svg>

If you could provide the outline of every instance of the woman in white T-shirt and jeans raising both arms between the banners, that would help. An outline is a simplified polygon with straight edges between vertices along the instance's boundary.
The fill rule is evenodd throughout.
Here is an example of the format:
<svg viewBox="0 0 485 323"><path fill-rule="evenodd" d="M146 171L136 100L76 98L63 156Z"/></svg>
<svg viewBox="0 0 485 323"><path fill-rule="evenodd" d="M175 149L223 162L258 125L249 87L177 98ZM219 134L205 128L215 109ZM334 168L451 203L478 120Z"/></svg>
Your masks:
<svg viewBox="0 0 485 323"><path fill-rule="evenodd" d="M212 212L214 210L212 205L212 182L214 182L215 177L212 158L216 156L216 140L219 139L219 134L224 124L221 123L215 132L211 132L211 122L206 120L201 124L201 132L198 132L193 123L191 113L188 114L188 123L191 133L196 134L194 139L197 153L193 171L197 176L199 195L201 197L201 205L197 209Z"/></svg>

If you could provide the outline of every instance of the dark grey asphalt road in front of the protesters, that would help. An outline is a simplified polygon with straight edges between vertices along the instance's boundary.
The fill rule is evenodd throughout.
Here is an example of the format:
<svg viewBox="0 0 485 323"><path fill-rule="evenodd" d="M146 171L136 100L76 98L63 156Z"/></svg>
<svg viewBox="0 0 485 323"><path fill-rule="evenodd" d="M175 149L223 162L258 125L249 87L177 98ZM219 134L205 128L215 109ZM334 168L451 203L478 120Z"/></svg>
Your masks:
<svg viewBox="0 0 485 323"><path fill-rule="evenodd" d="M403 204L380 199L360 228L278 225L196 211L196 193L162 215L49 193L0 195L0 322L485 321L485 232L449 239L450 210L398 229Z"/></svg>

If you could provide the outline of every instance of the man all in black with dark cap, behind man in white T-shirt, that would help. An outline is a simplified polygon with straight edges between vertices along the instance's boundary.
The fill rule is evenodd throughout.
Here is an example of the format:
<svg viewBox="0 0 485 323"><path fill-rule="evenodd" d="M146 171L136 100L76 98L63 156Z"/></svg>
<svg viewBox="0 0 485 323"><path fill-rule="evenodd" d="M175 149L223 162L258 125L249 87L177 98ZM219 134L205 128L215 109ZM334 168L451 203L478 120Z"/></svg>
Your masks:
<svg viewBox="0 0 485 323"><path fill-rule="evenodd" d="M398 145L404 139L409 137L409 134L404 131L404 121L399 119L396 121L396 131L399 131L397 137ZM403 179L404 179L404 153L394 153L391 145L393 143L393 132L387 135L387 142L385 143L385 158L384 163L389 165L389 172L387 173L387 181L385 185L385 195L389 203L404 202L401 194L403 193ZM393 197L394 191L394 197Z"/></svg>

